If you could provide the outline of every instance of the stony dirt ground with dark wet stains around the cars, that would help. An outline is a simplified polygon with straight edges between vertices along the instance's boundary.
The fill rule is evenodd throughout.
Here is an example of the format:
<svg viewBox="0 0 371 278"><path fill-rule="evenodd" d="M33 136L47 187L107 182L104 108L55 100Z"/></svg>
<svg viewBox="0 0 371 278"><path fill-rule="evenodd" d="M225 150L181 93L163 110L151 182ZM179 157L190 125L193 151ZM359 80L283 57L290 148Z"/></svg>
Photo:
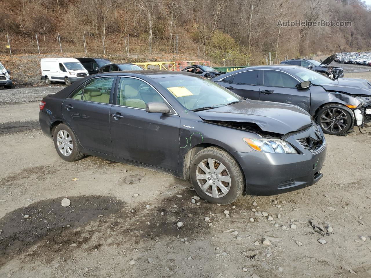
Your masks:
<svg viewBox="0 0 371 278"><path fill-rule="evenodd" d="M370 127L326 136L324 177L309 188L192 203L187 181L60 159L37 126L39 100L60 89L0 90L0 277L371 277Z"/></svg>

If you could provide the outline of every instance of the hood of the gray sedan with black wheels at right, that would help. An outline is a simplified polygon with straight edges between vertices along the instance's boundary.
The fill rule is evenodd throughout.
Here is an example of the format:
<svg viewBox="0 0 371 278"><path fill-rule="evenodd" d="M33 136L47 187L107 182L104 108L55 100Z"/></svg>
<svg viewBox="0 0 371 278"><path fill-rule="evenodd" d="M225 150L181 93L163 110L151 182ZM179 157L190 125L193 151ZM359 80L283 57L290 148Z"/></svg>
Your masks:
<svg viewBox="0 0 371 278"><path fill-rule="evenodd" d="M371 95L371 84L366 79L338 78L321 86L328 91L345 92L350 95Z"/></svg>

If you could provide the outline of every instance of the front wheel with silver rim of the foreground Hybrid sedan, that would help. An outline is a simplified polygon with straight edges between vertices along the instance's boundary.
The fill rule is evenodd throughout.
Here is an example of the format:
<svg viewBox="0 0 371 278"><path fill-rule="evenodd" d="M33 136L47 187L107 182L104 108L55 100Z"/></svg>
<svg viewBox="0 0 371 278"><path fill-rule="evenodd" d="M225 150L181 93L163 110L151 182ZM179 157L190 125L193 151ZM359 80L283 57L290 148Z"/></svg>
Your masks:
<svg viewBox="0 0 371 278"><path fill-rule="evenodd" d="M233 203L244 188L240 166L217 147L205 148L193 157L190 177L197 194L210 203Z"/></svg>

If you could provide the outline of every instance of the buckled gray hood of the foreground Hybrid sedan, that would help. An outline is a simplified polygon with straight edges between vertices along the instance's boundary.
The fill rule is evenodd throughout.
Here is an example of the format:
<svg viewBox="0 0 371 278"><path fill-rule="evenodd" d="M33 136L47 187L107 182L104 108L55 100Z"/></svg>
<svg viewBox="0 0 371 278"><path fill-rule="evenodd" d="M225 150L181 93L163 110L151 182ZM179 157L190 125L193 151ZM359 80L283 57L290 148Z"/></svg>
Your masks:
<svg viewBox="0 0 371 278"><path fill-rule="evenodd" d="M266 132L286 134L312 124L312 117L298 106L278 102L244 100L196 112L203 120L255 123Z"/></svg>

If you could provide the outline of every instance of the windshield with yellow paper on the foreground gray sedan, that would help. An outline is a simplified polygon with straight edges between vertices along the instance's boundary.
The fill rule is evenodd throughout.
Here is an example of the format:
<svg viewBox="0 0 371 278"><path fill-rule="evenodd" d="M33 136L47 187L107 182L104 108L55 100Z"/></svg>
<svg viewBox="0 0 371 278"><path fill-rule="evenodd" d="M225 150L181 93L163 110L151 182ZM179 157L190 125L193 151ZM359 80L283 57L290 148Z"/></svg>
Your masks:
<svg viewBox="0 0 371 278"><path fill-rule="evenodd" d="M171 76L156 79L188 110L219 107L244 98L201 76Z"/></svg>

